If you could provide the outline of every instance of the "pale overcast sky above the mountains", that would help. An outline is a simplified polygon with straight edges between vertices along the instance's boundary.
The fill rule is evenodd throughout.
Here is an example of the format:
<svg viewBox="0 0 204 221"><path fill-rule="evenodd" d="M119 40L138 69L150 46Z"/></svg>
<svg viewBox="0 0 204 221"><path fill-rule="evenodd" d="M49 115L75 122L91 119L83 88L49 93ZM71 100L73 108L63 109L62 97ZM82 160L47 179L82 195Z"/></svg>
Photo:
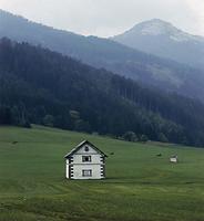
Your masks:
<svg viewBox="0 0 204 221"><path fill-rule="evenodd" d="M0 8L85 35L114 35L153 18L204 35L204 0L0 0Z"/></svg>

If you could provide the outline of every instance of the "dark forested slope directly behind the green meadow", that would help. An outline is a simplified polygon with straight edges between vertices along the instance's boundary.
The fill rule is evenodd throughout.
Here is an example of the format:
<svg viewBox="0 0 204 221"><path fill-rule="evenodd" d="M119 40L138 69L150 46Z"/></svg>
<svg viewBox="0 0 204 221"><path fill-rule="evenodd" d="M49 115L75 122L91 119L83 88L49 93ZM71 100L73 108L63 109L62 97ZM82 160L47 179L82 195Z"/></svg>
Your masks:
<svg viewBox="0 0 204 221"><path fill-rule="evenodd" d="M204 105L40 46L0 41L0 124L204 146Z"/></svg>

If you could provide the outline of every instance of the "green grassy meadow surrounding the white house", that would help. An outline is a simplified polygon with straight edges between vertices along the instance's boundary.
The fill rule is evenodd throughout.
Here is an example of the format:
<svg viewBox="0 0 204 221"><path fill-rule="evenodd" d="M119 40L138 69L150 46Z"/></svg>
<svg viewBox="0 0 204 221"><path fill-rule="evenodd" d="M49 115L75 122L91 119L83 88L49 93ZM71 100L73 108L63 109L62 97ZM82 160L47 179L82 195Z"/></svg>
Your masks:
<svg viewBox="0 0 204 221"><path fill-rule="evenodd" d="M106 180L64 179L63 156L82 139L114 152ZM0 221L41 220L203 221L204 149L0 127Z"/></svg>

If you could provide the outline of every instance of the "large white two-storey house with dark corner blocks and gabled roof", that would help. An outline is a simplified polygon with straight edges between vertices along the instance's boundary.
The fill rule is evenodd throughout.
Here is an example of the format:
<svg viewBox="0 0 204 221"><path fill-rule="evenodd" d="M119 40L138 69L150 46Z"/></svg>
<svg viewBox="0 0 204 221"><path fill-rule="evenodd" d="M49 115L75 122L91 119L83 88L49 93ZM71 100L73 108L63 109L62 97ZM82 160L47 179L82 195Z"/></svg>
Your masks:
<svg viewBox="0 0 204 221"><path fill-rule="evenodd" d="M65 156L65 177L68 179L104 179L105 157L88 140L79 144Z"/></svg>

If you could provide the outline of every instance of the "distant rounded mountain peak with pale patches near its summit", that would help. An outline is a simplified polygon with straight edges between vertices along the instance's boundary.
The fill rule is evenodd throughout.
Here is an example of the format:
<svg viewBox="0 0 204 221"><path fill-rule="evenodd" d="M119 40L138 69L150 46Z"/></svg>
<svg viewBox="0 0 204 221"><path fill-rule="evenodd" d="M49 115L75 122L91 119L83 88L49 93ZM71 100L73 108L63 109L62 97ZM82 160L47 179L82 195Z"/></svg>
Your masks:
<svg viewBox="0 0 204 221"><path fill-rule="evenodd" d="M145 53L204 69L204 38L154 19L136 24L112 40Z"/></svg>

